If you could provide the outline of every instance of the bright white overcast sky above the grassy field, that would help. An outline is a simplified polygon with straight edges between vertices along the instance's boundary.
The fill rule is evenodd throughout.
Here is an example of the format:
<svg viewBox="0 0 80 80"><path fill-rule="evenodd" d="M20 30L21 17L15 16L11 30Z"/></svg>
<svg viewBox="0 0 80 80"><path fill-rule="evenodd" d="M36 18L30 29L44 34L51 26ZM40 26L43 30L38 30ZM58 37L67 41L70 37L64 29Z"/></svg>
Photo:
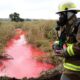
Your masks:
<svg viewBox="0 0 80 80"><path fill-rule="evenodd" d="M17 12L21 18L57 19L58 6L65 1L67 0L0 0L0 18L9 18L9 14ZM80 0L72 1L80 8Z"/></svg>

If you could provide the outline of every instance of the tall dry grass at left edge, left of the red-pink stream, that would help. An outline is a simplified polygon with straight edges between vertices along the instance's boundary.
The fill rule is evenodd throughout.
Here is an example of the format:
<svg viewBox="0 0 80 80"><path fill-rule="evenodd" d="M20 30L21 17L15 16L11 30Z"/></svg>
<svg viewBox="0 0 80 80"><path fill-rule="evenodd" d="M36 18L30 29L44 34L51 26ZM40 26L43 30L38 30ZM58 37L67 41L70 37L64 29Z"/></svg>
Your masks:
<svg viewBox="0 0 80 80"><path fill-rule="evenodd" d="M0 22L0 55L4 52L7 42L14 36L15 28L9 23Z"/></svg>

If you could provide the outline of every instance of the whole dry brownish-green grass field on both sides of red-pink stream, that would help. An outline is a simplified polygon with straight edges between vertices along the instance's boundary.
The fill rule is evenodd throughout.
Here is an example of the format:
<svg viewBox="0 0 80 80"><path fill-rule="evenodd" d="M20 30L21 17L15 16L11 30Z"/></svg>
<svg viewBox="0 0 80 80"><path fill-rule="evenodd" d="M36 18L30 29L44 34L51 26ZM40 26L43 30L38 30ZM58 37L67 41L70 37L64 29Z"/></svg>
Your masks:
<svg viewBox="0 0 80 80"><path fill-rule="evenodd" d="M21 28L25 31L26 40L41 51L46 52L44 55L48 60L56 63L53 56L52 43L56 39L56 23L53 20L38 20L26 22L0 22L0 54L4 52L7 42L15 35L15 29ZM44 60L44 56L38 60Z"/></svg>

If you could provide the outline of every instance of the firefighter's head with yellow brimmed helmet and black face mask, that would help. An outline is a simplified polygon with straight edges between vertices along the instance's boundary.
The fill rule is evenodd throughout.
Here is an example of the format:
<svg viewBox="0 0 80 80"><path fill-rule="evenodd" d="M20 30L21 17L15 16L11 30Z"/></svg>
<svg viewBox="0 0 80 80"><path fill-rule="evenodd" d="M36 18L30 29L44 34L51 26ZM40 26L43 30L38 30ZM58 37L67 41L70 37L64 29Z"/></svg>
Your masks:
<svg viewBox="0 0 80 80"><path fill-rule="evenodd" d="M76 9L76 4L73 2L64 2L59 5L59 21L58 24L60 26L66 25L68 22L69 25L73 24L77 19L77 12L80 12L80 10Z"/></svg>

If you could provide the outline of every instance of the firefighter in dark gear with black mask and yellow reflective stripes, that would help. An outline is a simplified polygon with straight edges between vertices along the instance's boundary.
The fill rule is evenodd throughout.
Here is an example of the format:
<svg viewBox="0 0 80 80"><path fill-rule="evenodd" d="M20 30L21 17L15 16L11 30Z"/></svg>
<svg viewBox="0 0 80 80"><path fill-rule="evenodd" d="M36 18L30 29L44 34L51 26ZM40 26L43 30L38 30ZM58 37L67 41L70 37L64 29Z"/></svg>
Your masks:
<svg viewBox="0 0 80 80"><path fill-rule="evenodd" d="M66 29L65 35L62 36L61 34L59 41L55 41L53 44L55 53L58 56L65 58L63 62L64 71L61 80L80 80L80 22L76 17L77 12L79 11L80 10L68 9L68 7L66 7L65 10L58 12L61 16L60 21L58 22L60 31L62 28L65 30L65 26L70 28L68 31ZM64 16L65 13L67 13L67 18L65 18L66 15ZM64 37L66 40L62 39ZM64 48L65 44L66 47Z"/></svg>

